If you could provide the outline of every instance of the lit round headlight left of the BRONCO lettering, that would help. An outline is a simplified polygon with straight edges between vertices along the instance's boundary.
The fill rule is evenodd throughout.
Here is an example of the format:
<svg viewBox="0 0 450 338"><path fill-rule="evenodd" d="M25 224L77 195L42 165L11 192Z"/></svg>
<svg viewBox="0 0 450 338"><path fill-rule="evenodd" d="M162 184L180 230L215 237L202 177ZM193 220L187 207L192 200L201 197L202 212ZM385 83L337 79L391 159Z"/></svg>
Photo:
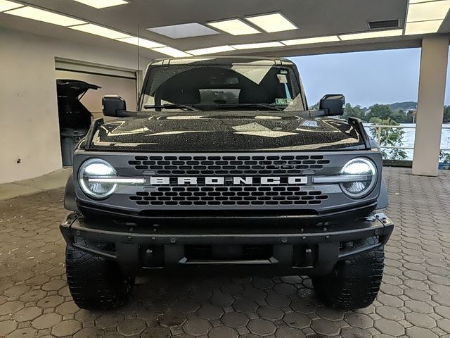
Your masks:
<svg viewBox="0 0 450 338"><path fill-rule="evenodd" d="M89 182L89 178L108 178L117 176L117 172L110 163L99 158L91 158L83 163L78 172L79 186L88 196L94 199L105 199L113 194L117 183Z"/></svg>

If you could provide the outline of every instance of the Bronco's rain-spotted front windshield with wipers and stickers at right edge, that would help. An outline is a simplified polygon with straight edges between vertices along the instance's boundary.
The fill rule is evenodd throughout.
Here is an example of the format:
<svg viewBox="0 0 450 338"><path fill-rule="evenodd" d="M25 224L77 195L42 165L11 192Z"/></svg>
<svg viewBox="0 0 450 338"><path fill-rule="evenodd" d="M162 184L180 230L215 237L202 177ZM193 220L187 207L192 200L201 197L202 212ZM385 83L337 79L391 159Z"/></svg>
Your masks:
<svg viewBox="0 0 450 338"><path fill-rule="evenodd" d="M304 111L292 68L274 65L154 67L144 85L142 111Z"/></svg>

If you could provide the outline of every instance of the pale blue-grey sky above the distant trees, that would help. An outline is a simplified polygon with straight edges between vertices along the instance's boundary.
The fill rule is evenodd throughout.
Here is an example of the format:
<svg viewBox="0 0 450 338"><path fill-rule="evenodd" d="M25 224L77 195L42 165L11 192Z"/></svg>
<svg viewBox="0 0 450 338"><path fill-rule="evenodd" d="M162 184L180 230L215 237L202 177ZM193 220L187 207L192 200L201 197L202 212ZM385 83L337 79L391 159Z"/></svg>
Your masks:
<svg viewBox="0 0 450 338"><path fill-rule="evenodd" d="M417 101L420 49L291 57L300 70L308 104L344 94L353 106ZM450 54L449 54L450 59ZM449 63L450 64L450 63ZM450 68L446 105L450 104Z"/></svg>

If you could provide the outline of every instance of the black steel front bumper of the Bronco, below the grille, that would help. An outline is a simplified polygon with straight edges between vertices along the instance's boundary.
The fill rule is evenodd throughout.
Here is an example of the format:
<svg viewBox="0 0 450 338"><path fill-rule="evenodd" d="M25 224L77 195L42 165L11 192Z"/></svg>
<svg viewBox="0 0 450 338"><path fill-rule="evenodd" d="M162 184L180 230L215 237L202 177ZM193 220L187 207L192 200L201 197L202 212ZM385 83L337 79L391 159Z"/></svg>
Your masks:
<svg viewBox="0 0 450 338"><path fill-rule="evenodd" d="M209 274L236 270L246 275L327 275L338 261L384 246L393 227L383 213L343 224L271 227L137 225L70 213L60 230L69 246L117 261L129 275L203 268ZM374 237L373 244L357 245L369 237Z"/></svg>

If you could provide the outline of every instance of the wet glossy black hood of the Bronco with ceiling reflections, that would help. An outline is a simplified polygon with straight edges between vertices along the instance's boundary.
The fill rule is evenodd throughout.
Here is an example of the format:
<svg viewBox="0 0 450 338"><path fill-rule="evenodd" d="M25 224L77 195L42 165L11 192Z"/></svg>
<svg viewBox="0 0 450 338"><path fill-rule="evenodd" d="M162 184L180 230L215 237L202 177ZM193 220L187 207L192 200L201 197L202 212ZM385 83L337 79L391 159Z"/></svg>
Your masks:
<svg viewBox="0 0 450 338"><path fill-rule="evenodd" d="M300 118L295 112L212 111L153 113L104 123L92 150L104 151L314 151L365 149L345 121Z"/></svg>

